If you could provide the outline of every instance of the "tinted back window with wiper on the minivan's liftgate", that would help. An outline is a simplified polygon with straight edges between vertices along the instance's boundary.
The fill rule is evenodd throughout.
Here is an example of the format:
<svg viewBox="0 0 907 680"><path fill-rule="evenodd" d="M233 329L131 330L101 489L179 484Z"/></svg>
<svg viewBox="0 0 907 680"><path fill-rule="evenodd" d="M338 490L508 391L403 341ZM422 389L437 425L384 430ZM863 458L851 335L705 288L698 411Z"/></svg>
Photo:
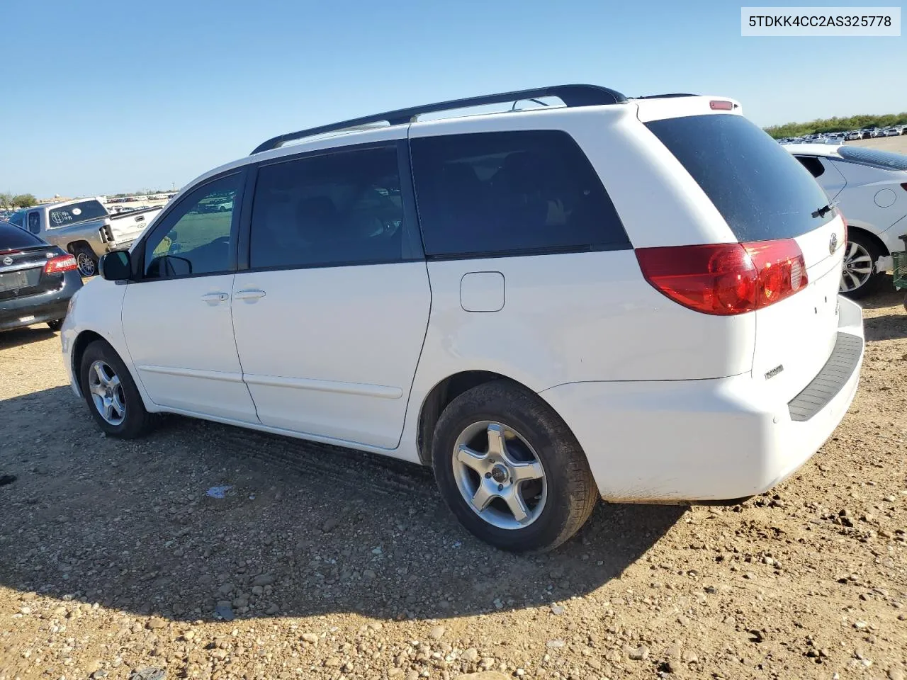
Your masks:
<svg viewBox="0 0 907 680"><path fill-rule="evenodd" d="M650 121L715 204L739 241L794 238L834 219L813 213L828 197L813 176L743 116L706 114Z"/></svg>

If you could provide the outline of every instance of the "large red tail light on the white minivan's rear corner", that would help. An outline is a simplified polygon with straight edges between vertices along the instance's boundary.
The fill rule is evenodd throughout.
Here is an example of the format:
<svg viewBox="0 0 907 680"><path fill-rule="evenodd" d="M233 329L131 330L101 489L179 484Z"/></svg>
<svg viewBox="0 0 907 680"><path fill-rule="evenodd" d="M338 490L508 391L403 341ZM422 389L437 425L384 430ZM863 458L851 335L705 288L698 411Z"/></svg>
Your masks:
<svg viewBox="0 0 907 680"><path fill-rule="evenodd" d="M660 293L697 312L735 315L774 305L806 287L793 238L708 246L639 248L639 267Z"/></svg>

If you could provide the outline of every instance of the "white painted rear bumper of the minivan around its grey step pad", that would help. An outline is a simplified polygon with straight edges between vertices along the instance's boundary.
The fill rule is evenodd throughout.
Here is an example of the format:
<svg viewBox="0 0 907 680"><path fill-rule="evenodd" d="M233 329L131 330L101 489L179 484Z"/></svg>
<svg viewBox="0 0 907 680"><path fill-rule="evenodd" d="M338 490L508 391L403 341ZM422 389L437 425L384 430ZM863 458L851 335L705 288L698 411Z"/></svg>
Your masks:
<svg viewBox="0 0 907 680"><path fill-rule="evenodd" d="M863 311L844 297L838 331L844 345L839 341L829 360L837 374L826 364L791 404L750 374L573 383L541 396L570 425L604 499L744 498L793 474L844 418L863 363ZM847 353L847 367L841 368Z"/></svg>

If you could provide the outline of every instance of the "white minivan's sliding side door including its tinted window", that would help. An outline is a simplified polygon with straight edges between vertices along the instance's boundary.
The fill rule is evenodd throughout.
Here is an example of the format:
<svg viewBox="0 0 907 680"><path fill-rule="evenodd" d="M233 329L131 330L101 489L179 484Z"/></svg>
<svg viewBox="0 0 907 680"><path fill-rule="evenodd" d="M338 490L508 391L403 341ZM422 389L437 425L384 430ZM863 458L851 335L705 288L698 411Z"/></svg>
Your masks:
<svg viewBox="0 0 907 680"><path fill-rule="evenodd" d="M258 168L232 309L261 423L400 442L431 305L406 168L394 139Z"/></svg>

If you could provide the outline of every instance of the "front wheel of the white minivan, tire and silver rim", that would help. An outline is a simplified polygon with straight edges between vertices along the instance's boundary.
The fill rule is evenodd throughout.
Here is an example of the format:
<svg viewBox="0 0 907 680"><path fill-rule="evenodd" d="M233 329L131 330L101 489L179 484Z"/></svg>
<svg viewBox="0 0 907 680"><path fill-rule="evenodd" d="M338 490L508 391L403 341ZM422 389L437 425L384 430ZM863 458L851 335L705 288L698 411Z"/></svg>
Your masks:
<svg viewBox="0 0 907 680"><path fill-rule="evenodd" d="M100 374L96 372L98 368L108 380L106 385L99 380ZM115 383L114 378L119 379L119 384L111 387ZM111 345L102 340L95 340L85 348L79 366L79 384L85 402L88 403L88 410L107 434L122 439L134 439L141 437L151 428L151 414L145 410L145 404L141 401L141 394L132 380L132 375ZM111 387L111 390L105 391L105 386ZM102 408L99 402L106 403L108 398L113 404L112 411L107 412L111 417L105 416L99 410ZM96 402L96 399L99 402Z"/></svg>

